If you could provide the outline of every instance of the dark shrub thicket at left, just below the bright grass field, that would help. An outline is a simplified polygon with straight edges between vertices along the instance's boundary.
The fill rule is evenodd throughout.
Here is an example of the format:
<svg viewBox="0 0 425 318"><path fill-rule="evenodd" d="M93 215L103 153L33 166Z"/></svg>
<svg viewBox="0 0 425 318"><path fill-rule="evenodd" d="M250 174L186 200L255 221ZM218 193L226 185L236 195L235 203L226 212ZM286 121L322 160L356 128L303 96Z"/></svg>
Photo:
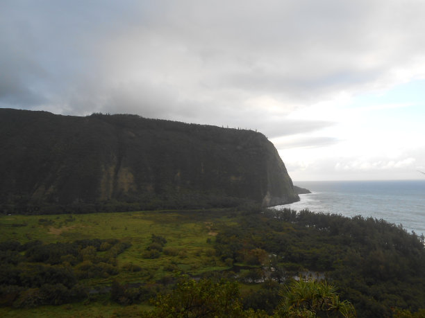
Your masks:
<svg viewBox="0 0 425 318"><path fill-rule="evenodd" d="M0 305L26 308L85 299L88 289L78 281L118 274L116 258L129 246L116 239L1 242Z"/></svg>

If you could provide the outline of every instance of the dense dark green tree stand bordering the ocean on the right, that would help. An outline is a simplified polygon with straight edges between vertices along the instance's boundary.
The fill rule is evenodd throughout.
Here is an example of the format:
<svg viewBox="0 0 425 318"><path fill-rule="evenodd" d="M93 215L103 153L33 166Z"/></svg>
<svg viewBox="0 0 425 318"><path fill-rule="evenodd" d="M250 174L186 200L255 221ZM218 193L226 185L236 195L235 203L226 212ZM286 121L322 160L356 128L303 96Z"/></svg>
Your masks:
<svg viewBox="0 0 425 318"><path fill-rule="evenodd" d="M326 276L360 317L424 308L424 237L384 220L269 210L245 215L220 231L215 244L223 260L269 267L277 281L297 274ZM245 275L251 281L258 277L255 270Z"/></svg>

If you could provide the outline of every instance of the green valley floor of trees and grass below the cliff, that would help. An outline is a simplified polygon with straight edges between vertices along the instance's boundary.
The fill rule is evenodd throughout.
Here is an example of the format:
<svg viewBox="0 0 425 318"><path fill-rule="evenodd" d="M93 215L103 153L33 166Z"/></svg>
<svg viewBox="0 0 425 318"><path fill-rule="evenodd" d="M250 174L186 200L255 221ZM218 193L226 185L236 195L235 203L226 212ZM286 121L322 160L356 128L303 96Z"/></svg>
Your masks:
<svg viewBox="0 0 425 318"><path fill-rule="evenodd" d="M385 220L240 206L3 215L0 227L0 315L84 303L117 306L103 317L424 317L424 236ZM293 299L309 288L322 305ZM181 307L188 297L196 306Z"/></svg>

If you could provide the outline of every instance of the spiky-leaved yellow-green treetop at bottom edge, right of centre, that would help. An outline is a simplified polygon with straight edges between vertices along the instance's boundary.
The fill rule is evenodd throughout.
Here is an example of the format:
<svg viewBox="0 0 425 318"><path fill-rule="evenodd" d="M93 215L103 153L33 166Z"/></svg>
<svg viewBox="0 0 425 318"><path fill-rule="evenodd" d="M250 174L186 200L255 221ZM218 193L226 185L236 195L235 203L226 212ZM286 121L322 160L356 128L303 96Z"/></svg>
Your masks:
<svg viewBox="0 0 425 318"><path fill-rule="evenodd" d="M277 317L356 317L349 301L341 301L336 288L325 281L292 281L280 293Z"/></svg>

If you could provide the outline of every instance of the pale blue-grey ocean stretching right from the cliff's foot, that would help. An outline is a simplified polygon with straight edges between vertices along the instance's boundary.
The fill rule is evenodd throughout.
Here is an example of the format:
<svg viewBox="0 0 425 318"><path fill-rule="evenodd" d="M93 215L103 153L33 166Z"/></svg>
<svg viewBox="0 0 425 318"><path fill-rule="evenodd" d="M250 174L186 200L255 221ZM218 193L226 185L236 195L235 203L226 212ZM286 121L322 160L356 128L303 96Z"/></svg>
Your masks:
<svg viewBox="0 0 425 318"><path fill-rule="evenodd" d="M409 233L425 234L425 179L406 181L294 182L312 193L301 201L276 206L297 211L362 215L401 224Z"/></svg>

